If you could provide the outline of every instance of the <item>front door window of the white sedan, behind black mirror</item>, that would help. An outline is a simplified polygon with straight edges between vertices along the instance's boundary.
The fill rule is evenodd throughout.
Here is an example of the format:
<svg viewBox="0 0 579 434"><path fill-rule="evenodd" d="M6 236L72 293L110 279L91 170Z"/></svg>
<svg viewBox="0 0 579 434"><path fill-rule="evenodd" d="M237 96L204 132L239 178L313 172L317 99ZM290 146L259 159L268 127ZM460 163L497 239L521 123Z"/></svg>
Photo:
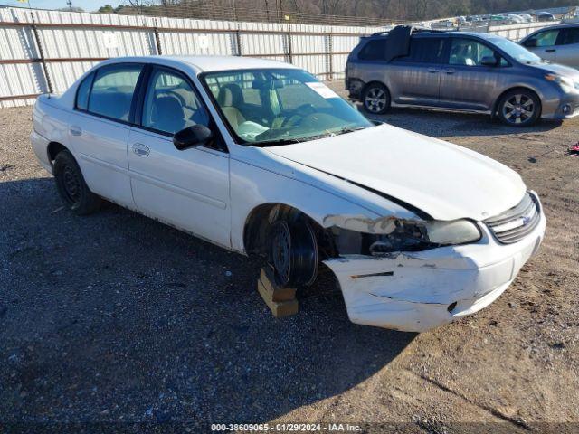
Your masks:
<svg viewBox="0 0 579 434"><path fill-rule="evenodd" d="M209 127L209 116L184 77L156 70L148 81L141 125L169 134L201 124Z"/></svg>

